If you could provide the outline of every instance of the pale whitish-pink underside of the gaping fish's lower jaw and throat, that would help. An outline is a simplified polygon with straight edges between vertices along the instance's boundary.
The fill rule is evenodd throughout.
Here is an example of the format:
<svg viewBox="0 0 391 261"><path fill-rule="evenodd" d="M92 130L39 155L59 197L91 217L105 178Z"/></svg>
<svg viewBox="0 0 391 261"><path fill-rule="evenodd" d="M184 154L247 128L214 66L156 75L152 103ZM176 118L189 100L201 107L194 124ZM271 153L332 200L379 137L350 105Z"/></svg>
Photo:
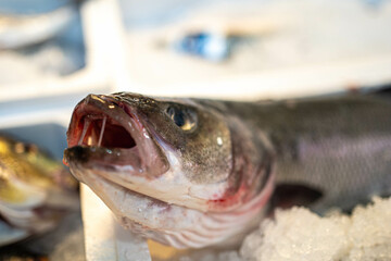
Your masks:
<svg viewBox="0 0 391 261"><path fill-rule="evenodd" d="M203 248L228 239L237 244L235 240L241 238L238 235L249 232L256 221L264 217L263 211L274 188L272 175L263 192L251 201L232 211L211 212L135 192L97 174L96 170L78 165L73 171L76 176L83 176L83 182L102 199L125 228L178 249Z"/></svg>

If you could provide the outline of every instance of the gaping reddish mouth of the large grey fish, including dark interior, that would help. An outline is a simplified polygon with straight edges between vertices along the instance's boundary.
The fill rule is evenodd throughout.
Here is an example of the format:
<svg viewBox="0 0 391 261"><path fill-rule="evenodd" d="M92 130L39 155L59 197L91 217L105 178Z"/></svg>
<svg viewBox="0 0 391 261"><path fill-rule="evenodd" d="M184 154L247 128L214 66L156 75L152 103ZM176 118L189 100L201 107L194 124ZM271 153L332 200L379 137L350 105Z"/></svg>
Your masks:
<svg viewBox="0 0 391 261"><path fill-rule="evenodd" d="M167 159L136 108L110 96L89 95L78 103L67 132L64 163L157 177Z"/></svg>

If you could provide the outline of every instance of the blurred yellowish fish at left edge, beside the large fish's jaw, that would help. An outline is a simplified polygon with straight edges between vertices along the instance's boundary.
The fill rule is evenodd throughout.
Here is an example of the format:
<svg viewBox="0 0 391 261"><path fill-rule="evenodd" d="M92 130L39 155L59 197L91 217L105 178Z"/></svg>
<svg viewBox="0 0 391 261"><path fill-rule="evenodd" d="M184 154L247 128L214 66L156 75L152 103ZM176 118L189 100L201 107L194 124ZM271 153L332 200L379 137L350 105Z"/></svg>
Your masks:
<svg viewBox="0 0 391 261"><path fill-rule="evenodd" d="M78 183L34 144L0 136L0 247L47 233L79 206Z"/></svg>

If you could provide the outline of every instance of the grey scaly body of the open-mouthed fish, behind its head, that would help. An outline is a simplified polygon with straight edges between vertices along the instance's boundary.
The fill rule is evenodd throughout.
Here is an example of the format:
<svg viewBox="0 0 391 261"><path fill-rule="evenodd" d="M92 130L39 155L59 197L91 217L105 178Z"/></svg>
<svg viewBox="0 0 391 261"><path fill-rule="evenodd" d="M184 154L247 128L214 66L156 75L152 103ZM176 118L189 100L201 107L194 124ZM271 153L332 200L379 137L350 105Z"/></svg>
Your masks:
<svg viewBox="0 0 391 261"><path fill-rule="evenodd" d="M373 195L391 195L387 97L344 95L227 107L273 144L277 183L323 194L313 210L350 210Z"/></svg>

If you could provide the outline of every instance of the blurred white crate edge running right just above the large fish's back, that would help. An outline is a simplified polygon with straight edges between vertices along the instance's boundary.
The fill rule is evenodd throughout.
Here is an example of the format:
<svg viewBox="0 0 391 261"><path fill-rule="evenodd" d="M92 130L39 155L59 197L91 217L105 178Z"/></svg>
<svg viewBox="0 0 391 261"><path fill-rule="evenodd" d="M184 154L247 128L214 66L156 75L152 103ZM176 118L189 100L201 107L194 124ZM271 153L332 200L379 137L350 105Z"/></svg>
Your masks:
<svg viewBox="0 0 391 261"><path fill-rule="evenodd" d="M131 90L154 96L206 97L231 100L278 99L344 91L391 82L391 55L258 74L202 79L159 88L137 83Z"/></svg>

